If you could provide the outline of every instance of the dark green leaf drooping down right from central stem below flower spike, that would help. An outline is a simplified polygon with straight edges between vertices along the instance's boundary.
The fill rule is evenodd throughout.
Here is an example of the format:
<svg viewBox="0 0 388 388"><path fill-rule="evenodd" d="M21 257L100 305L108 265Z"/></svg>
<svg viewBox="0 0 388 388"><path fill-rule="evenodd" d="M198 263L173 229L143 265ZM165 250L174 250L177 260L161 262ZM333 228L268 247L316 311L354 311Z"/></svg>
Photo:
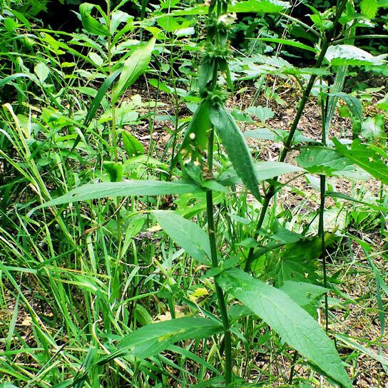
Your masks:
<svg viewBox="0 0 388 388"><path fill-rule="evenodd" d="M215 105L210 108L210 121L220 135L236 173L252 195L261 200L252 157L235 119L224 106Z"/></svg>

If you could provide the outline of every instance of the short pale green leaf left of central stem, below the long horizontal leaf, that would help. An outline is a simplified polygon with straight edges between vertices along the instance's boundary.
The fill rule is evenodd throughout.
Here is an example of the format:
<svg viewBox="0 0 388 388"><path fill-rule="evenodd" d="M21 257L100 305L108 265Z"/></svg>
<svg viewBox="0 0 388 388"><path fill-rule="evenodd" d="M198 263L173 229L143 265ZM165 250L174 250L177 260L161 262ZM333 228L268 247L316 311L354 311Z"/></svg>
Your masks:
<svg viewBox="0 0 388 388"><path fill-rule="evenodd" d="M201 264L210 264L208 234L192 221L171 210L155 210L156 220L165 233Z"/></svg>

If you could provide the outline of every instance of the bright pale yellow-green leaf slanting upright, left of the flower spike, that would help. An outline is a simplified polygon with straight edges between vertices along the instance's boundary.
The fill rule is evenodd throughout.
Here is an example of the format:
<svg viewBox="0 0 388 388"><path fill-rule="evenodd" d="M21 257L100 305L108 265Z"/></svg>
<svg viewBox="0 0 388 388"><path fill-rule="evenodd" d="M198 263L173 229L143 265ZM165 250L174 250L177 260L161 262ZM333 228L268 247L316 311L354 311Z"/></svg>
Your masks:
<svg viewBox="0 0 388 388"><path fill-rule="evenodd" d="M124 62L120 78L113 88L112 103L116 103L118 98L129 88L148 68L150 63L155 38L150 39L146 46L137 48Z"/></svg>

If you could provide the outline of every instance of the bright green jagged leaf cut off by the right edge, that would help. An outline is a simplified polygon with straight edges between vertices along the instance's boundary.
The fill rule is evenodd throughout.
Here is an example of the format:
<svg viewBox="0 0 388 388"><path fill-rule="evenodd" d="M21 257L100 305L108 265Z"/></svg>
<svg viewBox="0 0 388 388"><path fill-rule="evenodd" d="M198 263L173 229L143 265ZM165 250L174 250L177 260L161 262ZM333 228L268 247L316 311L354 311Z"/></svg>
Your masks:
<svg viewBox="0 0 388 388"><path fill-rule="evenodd" d="M333 138L332 141L335 143L335 148L339 153L352 160L352 162L359 165L370 175L373 175L374 178L380 180L384 185L388 184L387 158L384 158L385 161L383 161L380 158L382 153L377 153L371 146L362 144L359 139L354 140L350 148L339 143L337 138Z"/></svg>

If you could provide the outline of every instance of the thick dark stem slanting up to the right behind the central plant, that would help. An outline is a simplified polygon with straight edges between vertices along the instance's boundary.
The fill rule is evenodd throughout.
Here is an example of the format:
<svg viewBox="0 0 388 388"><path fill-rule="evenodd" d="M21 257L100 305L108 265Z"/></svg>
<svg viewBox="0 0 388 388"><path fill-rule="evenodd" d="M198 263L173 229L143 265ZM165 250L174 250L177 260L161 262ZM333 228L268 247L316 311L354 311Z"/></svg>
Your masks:
<svg viewBox="0 0 388 388"><path fill-rule="evenodd" d="M332 41L332 39L333 39L333 37L335 35L335 29L337 27L337 24L338 24L338 21L339 21L339 17L342 15L342 12L344 11L346 3L347 3L346 0L342 0L341 4L339 4L339 6L337 8L337 12L335 14L335 21L333 22L332 29L329 31L329 33L326 36L325 41L322 44L320 55L318 56L317 62L315 63L315 66L314 66L315 68L320 68L322 66L323 60L325 59L325 55L326 55L326 52L327 52L327 48L330 47L330 42ZM312 76L310 77L310 81L307 83L305 91L303 91L302 99L300 100L299 106L297 108L297 114L296 114L296 116L294 118L294 121L292 122L290 133L287 136L287 139L286 139L286 141L284 143L284 148L282 149L282 152L280 153L280 156L279 156L279 161L280 162L284 162L285 161L287 153L290 150L290 147L291 147L291 144L292 144L292 139L295 136L295 131L297 130L297 126L299 124L300 118L302 117L302 113L305 110L305 106L306 106L307 100L310 97L310 93L312 91L312 88L313 88L313 86L315 84L315 80L316 79L317 79L317 75L312 74ZM277 182L277 177L274 180L275 180L275 183L276 183ZM270 205L270 200L275 195L275 192L276 192L276 190L275 190L275 183L270 183L270 186L269 186L269 188L267 190L267 194L265 195L265 200L264 200L264 202L262 204L262 208L260 210L260 217L259 217L259 220L257 221L257 226L256 226L256 230L255 230L255 240L257 239L257 237L258 237L258 235L260 233L260 229L262 228L262 223L263 223L263 221L265 219L265 215L266 215L267 210L268 210L269 205ZM250 265L251 265L252 260L253 260L254 252L255 252L255 247L251 247L249 252L248 252L247 261L245 262L244 270L246 272L249 272L249 270L250 270Z"/></svg>

